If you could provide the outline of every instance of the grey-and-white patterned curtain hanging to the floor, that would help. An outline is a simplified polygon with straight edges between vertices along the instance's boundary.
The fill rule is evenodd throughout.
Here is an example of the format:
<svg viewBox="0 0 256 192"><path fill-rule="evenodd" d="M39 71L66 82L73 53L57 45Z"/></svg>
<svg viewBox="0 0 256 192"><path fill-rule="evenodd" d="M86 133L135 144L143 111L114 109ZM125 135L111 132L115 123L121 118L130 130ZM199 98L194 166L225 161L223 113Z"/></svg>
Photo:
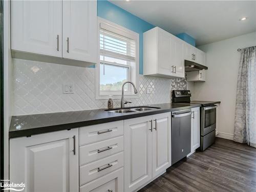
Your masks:
<svg viewBox="0 0 256 192"><path fill-rule="evenodd" d="M256 147L256 46L241 52L234 141Z"/></svg>

